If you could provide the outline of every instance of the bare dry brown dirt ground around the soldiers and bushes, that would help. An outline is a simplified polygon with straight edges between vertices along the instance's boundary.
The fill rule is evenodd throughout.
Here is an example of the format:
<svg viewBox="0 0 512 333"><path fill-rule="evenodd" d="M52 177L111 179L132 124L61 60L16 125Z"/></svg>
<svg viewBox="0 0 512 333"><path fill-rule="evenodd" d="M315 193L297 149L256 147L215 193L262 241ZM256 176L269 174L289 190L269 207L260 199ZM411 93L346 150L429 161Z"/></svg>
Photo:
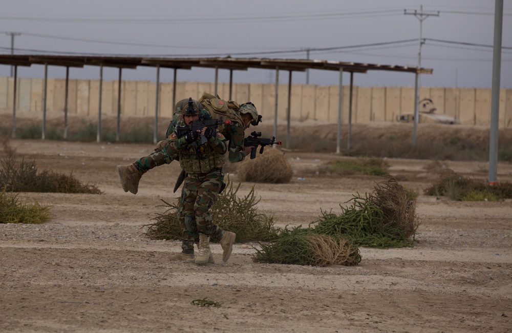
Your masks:
<svg viewBox="0 0 512 333"><path fill-rule="evenodd" d="M151 144L11 140L39 170L73 173L102 195L20 193L52 205L50 221L0 224L2 332L510 332L512 201L455 202L422 190L435 176L425 160L389 160L399 183L418 190L421 225L411 248L360 248L356 266L309 267L252 262L253 245L235 244L227 265L169 261L178 241L143 233L172 193L179 165L145 174L124 193L116 165ZM312 176L331 154L288 152L288 184L255 184L259 211L276 226L307 225L321 210L373 190L379 177ZM486 179L482 162L444 162ZM298 180L298 178L305 178ZM512 164L498 167L512 181ZM240 194L254 184L244 183ZM221 307L197 307L207 298Z"/></svg>

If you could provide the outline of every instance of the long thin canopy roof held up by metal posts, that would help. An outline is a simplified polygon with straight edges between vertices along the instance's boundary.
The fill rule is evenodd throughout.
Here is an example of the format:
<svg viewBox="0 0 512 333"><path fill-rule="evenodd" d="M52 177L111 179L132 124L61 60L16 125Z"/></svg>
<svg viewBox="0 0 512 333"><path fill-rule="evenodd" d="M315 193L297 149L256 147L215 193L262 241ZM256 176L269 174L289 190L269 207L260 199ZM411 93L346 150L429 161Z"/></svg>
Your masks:
<svg viewBox="0 0 512 333"><path fill-rule="evenodd" d="M432 69L409 66L375 65L365 63L347 63L343 61L309 59L271 59L271 58L166 58L132 56L70 56L70 55L18 55L0 54L0 64L31 66L52 65L66 67L106 66L117 68L167 67L191 69L192 67L247 70L248 68L305 71L307 69L366 73L370 70L432 74Z"/></svg>

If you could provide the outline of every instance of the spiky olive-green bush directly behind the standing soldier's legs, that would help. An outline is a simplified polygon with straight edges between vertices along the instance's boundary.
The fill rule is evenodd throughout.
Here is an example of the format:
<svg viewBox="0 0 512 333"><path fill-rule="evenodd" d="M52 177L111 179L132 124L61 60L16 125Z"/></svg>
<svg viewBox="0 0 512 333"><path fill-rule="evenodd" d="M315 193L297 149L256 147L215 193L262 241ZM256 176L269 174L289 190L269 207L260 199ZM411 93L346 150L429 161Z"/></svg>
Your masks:
<svg viewBox="0 0 512 333"><path fill-rule="evenodd" d="M256 205L260 200L257 199L254 186L249 194L240 198L237 196L240 185L241 183L233 189L232 182L227 179L225 190L217 196L216 202L210 208L214 223L223 230L236 233L237 242L241 243L277 238L279 229L273 226L273 217L258 213ZM156 222L147 225L145 235L150 239L181 240L181 228L176 215L178 204L163 202L169 207L168 210L163 214L157 213L152 219Z"/></svg>

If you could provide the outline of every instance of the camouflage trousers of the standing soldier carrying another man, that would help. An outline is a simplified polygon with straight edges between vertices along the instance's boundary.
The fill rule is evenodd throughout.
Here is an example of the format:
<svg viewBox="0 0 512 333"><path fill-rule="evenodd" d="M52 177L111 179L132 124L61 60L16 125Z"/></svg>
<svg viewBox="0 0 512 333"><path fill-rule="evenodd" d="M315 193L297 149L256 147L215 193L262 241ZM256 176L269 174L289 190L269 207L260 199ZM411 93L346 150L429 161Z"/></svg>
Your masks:
<svg viewBox="0 0 512 333"><path fill-rule="evenodd" d="M212 222L209 210L215 203L223 180L222 170L198 179L190 176L185 178L177 212L183 253L194 253L194 243L199 243L199 234L209 235L214 242L221 240L224 231Z"/></svg>

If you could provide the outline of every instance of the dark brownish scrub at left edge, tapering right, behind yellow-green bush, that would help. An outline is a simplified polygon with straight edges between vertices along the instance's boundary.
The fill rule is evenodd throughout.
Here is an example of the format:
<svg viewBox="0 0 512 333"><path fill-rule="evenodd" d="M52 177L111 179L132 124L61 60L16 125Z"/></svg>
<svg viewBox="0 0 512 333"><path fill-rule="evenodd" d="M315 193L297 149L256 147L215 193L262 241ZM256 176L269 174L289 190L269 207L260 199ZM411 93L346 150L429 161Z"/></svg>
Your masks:
<svg viewBox="0 0 512 333"><path fill-rule="evenodd" d="M49 170L37 171L35 160L17 161L12 149L0 161L0 187L12 192L39 193L89 193L101 194L94 185L82 184L73 175L63 175Z"/></svg>

